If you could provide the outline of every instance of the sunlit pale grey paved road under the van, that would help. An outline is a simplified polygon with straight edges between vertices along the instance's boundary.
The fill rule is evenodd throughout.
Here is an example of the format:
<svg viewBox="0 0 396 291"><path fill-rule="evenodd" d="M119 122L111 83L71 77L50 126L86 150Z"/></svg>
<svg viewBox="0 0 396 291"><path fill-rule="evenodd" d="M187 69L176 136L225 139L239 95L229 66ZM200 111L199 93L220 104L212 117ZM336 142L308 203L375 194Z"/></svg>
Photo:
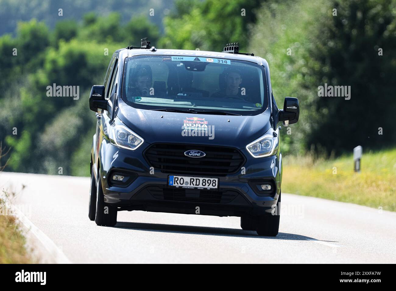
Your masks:
<svg viewBox="0 0 396 291"><path fill-rule="evenodd" d="M97 226L83 177L1 173L4 187L74 263L396 262L396 213L354 204L282 194L270 238L242 230L238 217L121 211L115 227Z"/></svg>

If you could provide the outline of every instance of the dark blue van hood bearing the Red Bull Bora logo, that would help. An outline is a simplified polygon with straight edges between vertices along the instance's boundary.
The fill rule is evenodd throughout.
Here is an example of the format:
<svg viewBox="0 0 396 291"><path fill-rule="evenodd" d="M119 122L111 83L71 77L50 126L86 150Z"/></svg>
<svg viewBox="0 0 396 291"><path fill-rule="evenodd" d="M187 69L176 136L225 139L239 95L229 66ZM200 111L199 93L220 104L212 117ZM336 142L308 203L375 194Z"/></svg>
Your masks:
<svg viewBox="0 0 396 291"><path fill-rule="evenodd" d="M255 116L230 116L145 110L124 102L118 106L117 117L150 144L210 144L242 149L271 127L269 108ZM208 136L188 136L187 131L183 132L185 124L207 128Z"/></svg>

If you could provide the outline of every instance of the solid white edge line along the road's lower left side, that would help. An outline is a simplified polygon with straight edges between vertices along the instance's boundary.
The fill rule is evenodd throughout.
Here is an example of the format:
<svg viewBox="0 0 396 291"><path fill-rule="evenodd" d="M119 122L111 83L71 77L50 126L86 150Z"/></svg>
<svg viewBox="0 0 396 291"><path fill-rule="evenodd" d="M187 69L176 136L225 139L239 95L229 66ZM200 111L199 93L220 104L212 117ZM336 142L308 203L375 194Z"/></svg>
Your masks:
<svg viewBox="0 0 396 291"><path fill-rule="evenodd" d="M18 220L29 230L44 246L57 264L71 264L66 255L57 247L57 245L44 232L38 229L19 209L13 209Z"/></svg>

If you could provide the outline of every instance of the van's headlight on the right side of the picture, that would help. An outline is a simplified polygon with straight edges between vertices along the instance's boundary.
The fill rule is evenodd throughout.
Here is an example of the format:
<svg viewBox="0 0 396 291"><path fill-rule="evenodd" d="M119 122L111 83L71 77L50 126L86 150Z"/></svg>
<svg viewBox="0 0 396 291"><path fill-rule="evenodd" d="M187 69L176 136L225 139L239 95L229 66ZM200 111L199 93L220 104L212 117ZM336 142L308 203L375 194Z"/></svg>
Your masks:
<svg viewBox="0 0 396 291"><path fill-rule="evenodd" d="M266 134L246 146L253 158L263 158L276 154L279 145L279 129L275 131L276 137Z"/></svg>

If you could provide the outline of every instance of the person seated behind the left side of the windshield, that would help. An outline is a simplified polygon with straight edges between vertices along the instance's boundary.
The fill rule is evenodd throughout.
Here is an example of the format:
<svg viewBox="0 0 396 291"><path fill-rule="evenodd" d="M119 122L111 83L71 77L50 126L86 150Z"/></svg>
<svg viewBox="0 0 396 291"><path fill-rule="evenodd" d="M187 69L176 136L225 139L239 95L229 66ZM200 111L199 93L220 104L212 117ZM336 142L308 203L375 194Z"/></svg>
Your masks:
<svg viewBox="0 0 396 291"><path fill-rule="evenodd" d="M131 97L149 95L150 88L152 87L152 72L150 66L145 65L140 67L138 65L134 71L134 74L129 78L128 95Z"/></svg>

